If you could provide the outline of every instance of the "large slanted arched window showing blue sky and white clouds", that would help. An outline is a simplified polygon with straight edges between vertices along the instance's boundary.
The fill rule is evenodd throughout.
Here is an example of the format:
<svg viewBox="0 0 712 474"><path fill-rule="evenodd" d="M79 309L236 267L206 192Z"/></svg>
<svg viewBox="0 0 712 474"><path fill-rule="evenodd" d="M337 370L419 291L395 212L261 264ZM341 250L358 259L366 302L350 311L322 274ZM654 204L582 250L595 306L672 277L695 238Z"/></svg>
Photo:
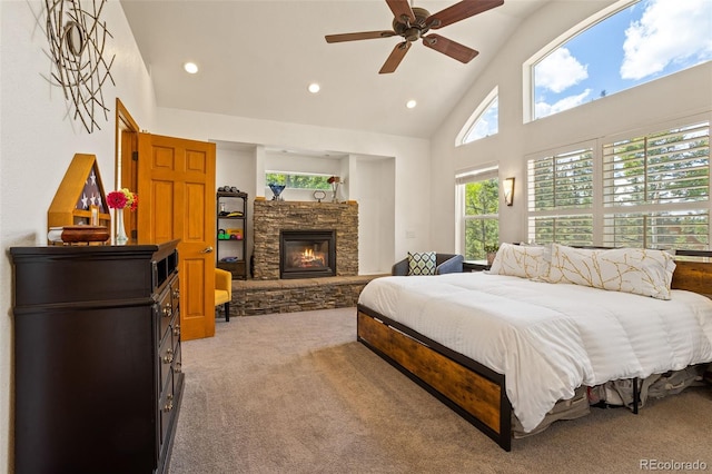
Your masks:
<svg viewBox="0 0 712 474"><path fill-rule="evenodd" d="M525 63L528 118L547 117L712 58L710 0L622 0ZM528 68L526 68L528 66Z"/></svg>

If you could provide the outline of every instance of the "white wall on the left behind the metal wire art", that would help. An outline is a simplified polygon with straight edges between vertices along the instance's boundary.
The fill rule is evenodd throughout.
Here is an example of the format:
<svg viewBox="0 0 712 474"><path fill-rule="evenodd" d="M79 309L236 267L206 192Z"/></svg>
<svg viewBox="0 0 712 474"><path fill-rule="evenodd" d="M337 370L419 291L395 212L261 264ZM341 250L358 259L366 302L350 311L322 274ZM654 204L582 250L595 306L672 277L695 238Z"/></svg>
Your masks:
<svg viewBox="0 0 712 474"><path fill-rule="evenodd" d="M88 134L68 116L60 89L44 79L43 1L0 1L0 472L10 472L12 381L12 271L7 250L47 241L47 210L75 154L97 156L105 190L113 189L116 97L144 127L154 124L152 86L118 1L106 4L101 19L113 36L105 55L116 55L103 99L109 120ZM44 77L43 77L44 76Z"/></svg>

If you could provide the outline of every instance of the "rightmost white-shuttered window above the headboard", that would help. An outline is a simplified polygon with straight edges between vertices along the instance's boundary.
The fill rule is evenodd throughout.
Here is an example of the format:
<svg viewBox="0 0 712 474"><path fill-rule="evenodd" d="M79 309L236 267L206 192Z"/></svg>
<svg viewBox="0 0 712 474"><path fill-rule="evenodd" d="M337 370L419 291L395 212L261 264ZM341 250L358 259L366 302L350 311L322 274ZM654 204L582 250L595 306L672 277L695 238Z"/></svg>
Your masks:
<svg viewBox="0 0 712 474"><path fill-rule="evenodd" d="M603 243L611 246L709 246L710 124L606 142Z"/></svg>

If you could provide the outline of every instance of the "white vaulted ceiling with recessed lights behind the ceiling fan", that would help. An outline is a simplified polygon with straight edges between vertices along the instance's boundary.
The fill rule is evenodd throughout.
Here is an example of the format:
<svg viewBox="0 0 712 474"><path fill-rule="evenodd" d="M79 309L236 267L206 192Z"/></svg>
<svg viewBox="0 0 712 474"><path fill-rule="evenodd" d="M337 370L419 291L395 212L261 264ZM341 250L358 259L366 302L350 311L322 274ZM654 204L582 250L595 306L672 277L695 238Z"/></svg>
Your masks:
<svg viewBox="0 0 712 474"><path fill-rule="evenodd" d="M479 2L482 0L469 0ZM479 51L461 63L414 43L378 71L400 37L328 45L326 34L390 30L385 0L121 0L159 107L429 137L526 16L504 4L436 32ZM415 1L431 13L455 0ZM182 65L200 68L188 75ZM318 82L316 95L307 87ZM417 106L406 108L408 100ZM473 105L473 108L476 106Z"/></svg>

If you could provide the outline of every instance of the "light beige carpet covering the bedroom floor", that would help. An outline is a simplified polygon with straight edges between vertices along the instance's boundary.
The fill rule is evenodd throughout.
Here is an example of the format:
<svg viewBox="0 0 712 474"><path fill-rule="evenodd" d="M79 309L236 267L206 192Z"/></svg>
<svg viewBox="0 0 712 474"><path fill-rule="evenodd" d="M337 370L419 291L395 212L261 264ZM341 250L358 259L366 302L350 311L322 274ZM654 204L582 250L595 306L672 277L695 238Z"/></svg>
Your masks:
<svg viewBox="0 0 712 474"><path fill-rule="evenodd" d="M643 460L712 471L712 389L593 408L502 451L356 342L356 309L216 322L182 345L170 465L188 473L634 473Z"/></svg>

